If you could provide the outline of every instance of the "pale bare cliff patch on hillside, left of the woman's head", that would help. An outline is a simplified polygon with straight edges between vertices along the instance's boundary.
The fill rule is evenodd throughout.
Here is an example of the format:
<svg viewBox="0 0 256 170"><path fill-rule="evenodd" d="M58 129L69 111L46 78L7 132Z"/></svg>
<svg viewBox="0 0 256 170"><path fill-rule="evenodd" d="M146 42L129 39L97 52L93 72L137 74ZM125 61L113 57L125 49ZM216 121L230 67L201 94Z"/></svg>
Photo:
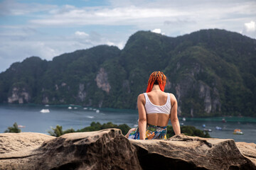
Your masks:
<svg viewBox="0 0 256 170"><path fill-rule="evenodd" d="M97 82L97 87L110 93L110 83L107 79L107 72L105 72L104 68L100 68L100 71L97 73L95 81Z"/></svg>

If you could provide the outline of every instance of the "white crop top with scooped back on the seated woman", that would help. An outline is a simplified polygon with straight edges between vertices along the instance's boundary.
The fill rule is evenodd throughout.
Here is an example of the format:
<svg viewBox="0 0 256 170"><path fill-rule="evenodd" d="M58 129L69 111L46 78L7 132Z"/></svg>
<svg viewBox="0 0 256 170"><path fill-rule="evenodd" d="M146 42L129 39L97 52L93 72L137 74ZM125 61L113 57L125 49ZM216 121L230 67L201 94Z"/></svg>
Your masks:
<svg viewBox="0 0 256 170"><path fill-rule="evenodd" d="M149 114L149 113L171 114L171 98L169 93L167 96L167 101L163 106L157 106L151 103L151 101L149 100L149 96L147 96L146 93L144 93L144 96L146 98L146 103L145 103L146 114Z"/></svg>

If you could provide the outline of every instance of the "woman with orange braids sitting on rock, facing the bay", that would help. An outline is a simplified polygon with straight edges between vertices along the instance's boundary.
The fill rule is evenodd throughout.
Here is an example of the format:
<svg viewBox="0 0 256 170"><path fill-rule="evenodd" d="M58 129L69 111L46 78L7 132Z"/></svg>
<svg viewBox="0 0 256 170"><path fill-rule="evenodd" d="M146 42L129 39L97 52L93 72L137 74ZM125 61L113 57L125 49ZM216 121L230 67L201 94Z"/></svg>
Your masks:
<svg viewBox="0 0 256 170"><path fill-rule="evenodd" d="M150 75L146 93L139 94L137 99L139 127L129 130L125 137L133 140L166 140L169 120L175 135L181 133L177 117L178 103L174 94L164 92L165 84L163 72Z"/></svg>

